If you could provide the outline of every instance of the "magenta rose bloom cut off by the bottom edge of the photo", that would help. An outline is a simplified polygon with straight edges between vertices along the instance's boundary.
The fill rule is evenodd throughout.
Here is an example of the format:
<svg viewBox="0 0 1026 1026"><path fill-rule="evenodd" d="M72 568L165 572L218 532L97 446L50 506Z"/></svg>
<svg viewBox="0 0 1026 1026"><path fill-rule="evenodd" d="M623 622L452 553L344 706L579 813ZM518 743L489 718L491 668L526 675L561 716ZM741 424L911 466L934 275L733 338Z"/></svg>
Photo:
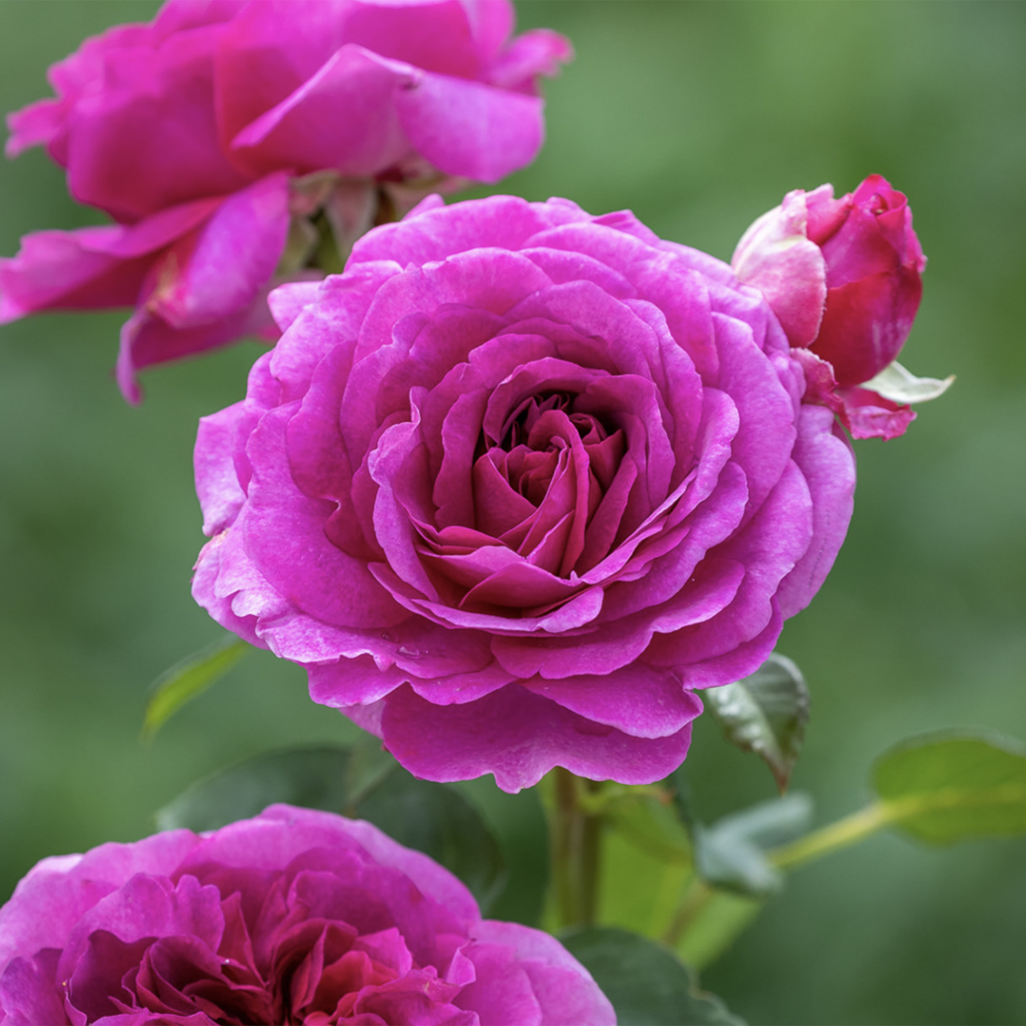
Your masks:
<svg viewBox="0 0 1026 1026"><path fill-rule="evenodd" d="M0 909L0 1023L606 1026L554 938L377 827L272 805L40 862Z"/></svg>

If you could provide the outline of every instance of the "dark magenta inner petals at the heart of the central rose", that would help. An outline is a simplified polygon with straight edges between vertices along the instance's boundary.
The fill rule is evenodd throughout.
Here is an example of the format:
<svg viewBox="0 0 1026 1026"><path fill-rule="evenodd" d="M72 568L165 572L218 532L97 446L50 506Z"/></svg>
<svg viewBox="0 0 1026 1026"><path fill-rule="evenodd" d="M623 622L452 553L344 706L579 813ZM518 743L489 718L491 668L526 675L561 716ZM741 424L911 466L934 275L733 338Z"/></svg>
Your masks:
<svg viewBox="0 0 1026 1026"><path fill-rule="evenodd" d="M665 416L650 381L541 357L447 417L465 439L470 495L458 504L436 484L446 513L435 524L408 510L443 601L508 617L555 609L590 587L581 577L666 499Z"/></svg>

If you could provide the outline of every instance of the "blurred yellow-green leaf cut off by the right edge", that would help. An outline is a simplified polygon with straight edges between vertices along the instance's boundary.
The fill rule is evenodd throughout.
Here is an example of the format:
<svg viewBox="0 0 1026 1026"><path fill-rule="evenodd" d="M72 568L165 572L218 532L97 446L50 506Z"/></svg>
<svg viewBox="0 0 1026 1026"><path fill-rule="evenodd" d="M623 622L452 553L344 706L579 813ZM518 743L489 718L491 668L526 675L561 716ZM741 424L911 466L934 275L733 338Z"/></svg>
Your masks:
<svg viewBox="0 0 1026 1026"><path fill-rule="evenodd" d="M882 817L919 840L1026 833L1026 749L986 734L914 738L873 767Z"/></svg>

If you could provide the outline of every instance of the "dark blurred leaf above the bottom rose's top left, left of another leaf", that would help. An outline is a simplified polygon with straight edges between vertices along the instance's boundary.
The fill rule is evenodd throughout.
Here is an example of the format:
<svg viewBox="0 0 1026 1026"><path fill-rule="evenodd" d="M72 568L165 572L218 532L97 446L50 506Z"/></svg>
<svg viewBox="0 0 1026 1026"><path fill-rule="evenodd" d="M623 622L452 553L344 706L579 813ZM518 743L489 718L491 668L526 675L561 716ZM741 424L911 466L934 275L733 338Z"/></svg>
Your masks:
<svg viewBox="0 0 1026 1026"><path fill-rule="evenodd" d="M256 755L198 781L157 812L161 830L197 833L256 816L278 801L341 813L346 807L349 751L293 748Z"/></svg>

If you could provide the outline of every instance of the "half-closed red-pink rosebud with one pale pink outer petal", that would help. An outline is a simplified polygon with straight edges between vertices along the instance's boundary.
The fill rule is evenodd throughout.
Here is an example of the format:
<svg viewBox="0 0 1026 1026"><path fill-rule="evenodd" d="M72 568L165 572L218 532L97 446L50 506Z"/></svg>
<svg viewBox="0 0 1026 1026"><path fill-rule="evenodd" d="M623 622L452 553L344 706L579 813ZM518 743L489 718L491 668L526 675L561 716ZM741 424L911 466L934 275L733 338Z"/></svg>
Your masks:
<svg viewBox="0 0 1026 1026"><path fill-rule="evenodd" d="M796 189L748 229L733 266L765 295L804 351L811 389L856 438L905 431L907 405L856 387L894 362L922 294L926 258L903 193L879 174L840 199L830 185Z"/></svg>

